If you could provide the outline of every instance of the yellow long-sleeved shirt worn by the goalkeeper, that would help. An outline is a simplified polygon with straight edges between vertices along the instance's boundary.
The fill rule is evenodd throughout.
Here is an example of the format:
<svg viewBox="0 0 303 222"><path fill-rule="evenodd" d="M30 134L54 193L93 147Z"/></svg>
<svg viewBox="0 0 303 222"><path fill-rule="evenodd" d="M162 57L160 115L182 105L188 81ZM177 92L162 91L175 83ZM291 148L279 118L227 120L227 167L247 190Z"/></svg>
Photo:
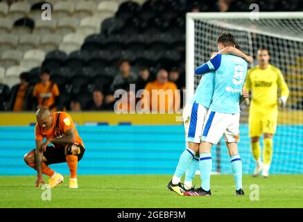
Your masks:
<svg viewBox="0 0 303 222"><path fill-rule="evenodd" d="M288 97L289 90L282 76L282 72L273 65L266 69L259 66L248 70L244 88L252 90L251 110L268 110L277 108L278 87L281 96Z"/></svg>

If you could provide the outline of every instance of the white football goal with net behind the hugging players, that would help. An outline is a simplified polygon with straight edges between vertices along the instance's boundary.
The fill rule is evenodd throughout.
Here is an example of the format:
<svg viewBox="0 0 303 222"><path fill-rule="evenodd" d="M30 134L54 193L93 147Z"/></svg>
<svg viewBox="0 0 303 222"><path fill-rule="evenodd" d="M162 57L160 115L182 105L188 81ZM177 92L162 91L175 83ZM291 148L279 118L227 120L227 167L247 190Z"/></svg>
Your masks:
<svg viewBox="0 0 303 222"><path fill-rule="evenodd" d="M186 19L186 101L200 82L201 77L194 75L194 69L218 51L216 40L220 33L232 33L241 50L254 57L249 68L257 65L257 50L268 49L270 64L281 69L290 89L286 108L279 108L272 172L303 173L303 12L259 12L257 17L252 12L188 12ZM254 161L246 105L241 105L240 131L243 173L252 173ZM223 140L212 155L220 156L217 162L220 166L214 166L213 170L231 172Z"/></svg>

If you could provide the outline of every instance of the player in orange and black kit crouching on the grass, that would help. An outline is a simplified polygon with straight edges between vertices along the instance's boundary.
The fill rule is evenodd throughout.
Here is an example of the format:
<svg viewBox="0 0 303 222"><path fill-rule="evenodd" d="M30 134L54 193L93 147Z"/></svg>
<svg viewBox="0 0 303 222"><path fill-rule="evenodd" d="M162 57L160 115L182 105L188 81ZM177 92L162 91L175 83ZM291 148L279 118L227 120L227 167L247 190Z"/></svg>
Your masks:
<svg viewBox="0 0 303 222"><path fill-rule="evenodd" d="M42 173L50 177L49 186L52 188L63 182L63 176L49 168L49 165L67 162L70 171L69 188L78 188L78 161L82 159L85 147L71 117L66 112L51 113L47 108L40 108L36 118L36 148L24 155L26 164L37 171L36 187L40 183L44 184Z"/></svg>

